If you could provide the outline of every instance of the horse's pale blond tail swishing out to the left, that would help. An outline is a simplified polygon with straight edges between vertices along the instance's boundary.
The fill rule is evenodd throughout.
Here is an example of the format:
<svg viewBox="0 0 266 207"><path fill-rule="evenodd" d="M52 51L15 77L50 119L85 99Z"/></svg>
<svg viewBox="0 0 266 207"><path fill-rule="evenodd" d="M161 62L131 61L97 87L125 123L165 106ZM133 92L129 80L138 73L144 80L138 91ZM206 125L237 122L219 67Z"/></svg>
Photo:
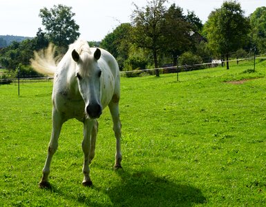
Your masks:
<svg viewBox="0 0 266 207"><path fill-rule="evenodd" d="M55 57L55 46L50 43L44 50L34 51L34 59L30 59L31 66L44 75L54 75L58 58Z"/></svg>

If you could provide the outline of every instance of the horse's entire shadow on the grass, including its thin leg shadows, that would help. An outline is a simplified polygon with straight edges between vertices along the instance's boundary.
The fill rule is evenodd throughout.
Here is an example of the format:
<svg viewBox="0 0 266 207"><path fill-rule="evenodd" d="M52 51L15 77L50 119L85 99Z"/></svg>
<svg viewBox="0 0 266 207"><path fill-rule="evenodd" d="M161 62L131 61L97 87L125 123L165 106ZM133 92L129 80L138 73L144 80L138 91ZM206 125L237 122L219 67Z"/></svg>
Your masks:
<svg viewBox="0 0 266 207"><path fill-rule="evenodd" d="M127 169L129 170L129 169ZM198 188L188 184L178 184L166 177L158 177L149 170L127 171L116 170L115 173L121 178L112 182L110 188L100 188L92 186L85 188L87 193L73 194L60 190L56 186L50 185L46 190L52 193L63 195L65 199L78 201L87 206L194 206L207 202ZM90 190L95 190L96 194L106 195L109 204L100 204L96 197L88 194ZM82 190L83 191L83 190Z"/></svg>

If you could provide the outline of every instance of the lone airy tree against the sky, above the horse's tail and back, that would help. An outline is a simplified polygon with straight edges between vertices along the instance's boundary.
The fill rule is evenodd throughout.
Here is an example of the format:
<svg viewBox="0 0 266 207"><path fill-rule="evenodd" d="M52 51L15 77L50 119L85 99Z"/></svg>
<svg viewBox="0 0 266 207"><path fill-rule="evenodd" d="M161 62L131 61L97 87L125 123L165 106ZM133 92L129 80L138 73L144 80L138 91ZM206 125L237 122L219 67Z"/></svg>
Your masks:
<svg viewBox="0 0 266 207"><path fill-rule="evenodd" d="M50 10L46 7L40 10L39 17L42 18L48 39L57 46L68 46L79 37L79 26L73 19L75 13L71 9L59 4Z"/></svg>

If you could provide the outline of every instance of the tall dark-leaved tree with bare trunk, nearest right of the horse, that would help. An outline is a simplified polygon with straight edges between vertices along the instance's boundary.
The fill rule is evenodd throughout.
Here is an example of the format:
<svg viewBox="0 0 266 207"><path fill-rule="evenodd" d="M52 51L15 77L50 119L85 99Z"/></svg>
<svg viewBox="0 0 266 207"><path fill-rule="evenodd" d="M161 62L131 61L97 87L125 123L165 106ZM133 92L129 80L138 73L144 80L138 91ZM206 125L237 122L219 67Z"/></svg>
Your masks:
<svg viewBox="0 0 266 207"><path fill-rule="evenodd" d="M133 42L140 48L152 51L155 68L158 68L158 52L163 44L162 25L166 8L164 3L167 0L147 1L146 8L139 8L131 15L133 25ZM156 77L159 77L159 70L155 70Z"/></svg>

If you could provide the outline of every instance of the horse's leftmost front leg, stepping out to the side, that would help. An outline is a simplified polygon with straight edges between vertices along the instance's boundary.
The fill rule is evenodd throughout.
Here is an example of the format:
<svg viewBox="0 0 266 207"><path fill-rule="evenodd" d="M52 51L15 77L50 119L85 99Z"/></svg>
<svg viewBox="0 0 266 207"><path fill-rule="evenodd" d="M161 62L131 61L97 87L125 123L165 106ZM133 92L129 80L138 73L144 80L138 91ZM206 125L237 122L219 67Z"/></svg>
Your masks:
<svg viewBox="0 0 266 207"><path fill-rule="evenodd" d="M52 157L55 154L57 147L58 147L58 138L61 132L61 127L64 121L62 120L62 117L55 108L53 108L53 129L52 129L52 134L50 138L50 143L48 147L48 155L46 158L46 163L43 168L43 175L41 178L41 181L39 182L39 187L40 188L48 188L50 186L48 182L48 175L50 173L50 164L52 161Z"/></svg>

